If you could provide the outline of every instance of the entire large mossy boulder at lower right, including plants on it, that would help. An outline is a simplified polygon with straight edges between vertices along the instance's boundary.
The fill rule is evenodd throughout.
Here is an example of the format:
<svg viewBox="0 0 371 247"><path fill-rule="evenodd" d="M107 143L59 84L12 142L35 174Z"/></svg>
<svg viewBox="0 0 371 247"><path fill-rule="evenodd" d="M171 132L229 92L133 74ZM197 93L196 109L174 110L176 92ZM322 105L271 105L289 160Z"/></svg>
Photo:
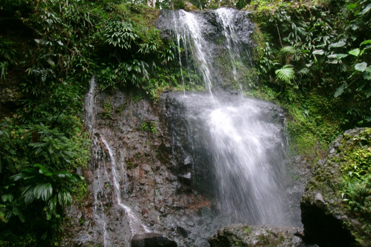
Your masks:
<svg viewBox="0 0 371 247"><path fill-rule="evenodd" d="M345 131L315 165L302 200L305 236L321 247L371 246L371 128Z"/></svg>

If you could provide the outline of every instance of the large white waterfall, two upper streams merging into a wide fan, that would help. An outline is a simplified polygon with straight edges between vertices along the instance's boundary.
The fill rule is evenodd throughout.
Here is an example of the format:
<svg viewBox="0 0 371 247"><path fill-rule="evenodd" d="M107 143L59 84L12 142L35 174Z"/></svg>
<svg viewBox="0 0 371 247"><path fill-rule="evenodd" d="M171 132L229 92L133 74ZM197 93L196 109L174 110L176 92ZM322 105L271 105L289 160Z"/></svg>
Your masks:
<svg viewBox="0 0 371 247"><path fill-rule="evenodd" d="M214 67L216 55L213 53L227 54L223 60L231 65L231 77L240 91L239 73L252 64L239 33L243 27L237 26L236 15L241 12L222 8L213 14L217 26L210 31L213 28L210 18L205 19L202 13L179 10L173 30L176 37L184 37L183 47L191 50L191 59L209 91L209 97L191 94L191 101L183 99L183 102L189 109L197 105L199 111L190 113L197 116L188 117L202 119L205 136L209 136L202 141L211 154L220 211L230 223L291 225L293 220L285 207L287 198L283 190L285 145L279 128L267 121L263 102L246 99L242 94L237 100L227 99L220 92L216 94L223 78L221 71ZM217 33L219 38L214 34L211 39L208 31ZM216 44L216 39L223 42L223 49Z"/></svg>

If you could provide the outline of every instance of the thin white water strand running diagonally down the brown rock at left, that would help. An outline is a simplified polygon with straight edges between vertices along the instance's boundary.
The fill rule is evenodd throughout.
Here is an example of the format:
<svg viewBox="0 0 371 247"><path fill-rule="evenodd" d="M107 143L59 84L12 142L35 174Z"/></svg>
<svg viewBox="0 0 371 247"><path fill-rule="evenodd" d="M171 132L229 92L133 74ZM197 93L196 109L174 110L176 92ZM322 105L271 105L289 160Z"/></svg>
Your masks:
<svg viewBox="0 0 371 247"><path fill-rule="evenodd" d="M116 194L116 200L117 200L117 204L122 207L127 216L128 216L128 219L129 219L129 224L130 224L130 229L131 229L131 233L134 235L135 233L137 233L137 226L139 227L142 227L144 229L145 232L149 233L151 232L146 226L144 226L140 220L134 215L134 213L132 212L131 208L126 206L125 204L122 203L121 201L121 190L120 190L120 184L118 182L118 177L117 177L117 174L116 174L116 161L115 161L115 157L114 157L114 154L112 152L112 149L111 147L108 145L107 141L101 136L101 139L102 139L102 142L104 143L105 147L107 148L108 150L108 154L109 154L109 158L111 160L111 171L112 171L112 179L113 179L113 182L114 182L114 190L115 190L115 194Z"/></svg>

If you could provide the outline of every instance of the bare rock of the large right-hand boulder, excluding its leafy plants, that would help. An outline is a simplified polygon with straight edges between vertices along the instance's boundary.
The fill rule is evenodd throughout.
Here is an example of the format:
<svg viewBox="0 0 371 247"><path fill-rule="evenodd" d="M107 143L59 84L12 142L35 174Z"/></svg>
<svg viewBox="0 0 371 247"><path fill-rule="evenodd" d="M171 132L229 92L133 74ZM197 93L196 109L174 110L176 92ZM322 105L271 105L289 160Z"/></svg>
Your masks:
<svg viewBox="0 0 371 247"><path fill-rule="evenodd" d="M306 185L301 200L304 233L306 238L321 247L371 246L367 229L370 216L360 217L359 213L351 210L347 196L342 194L344 174L348 173L344 167L351 162L348 156L355 149L366 153L370 150L370 142L367 144L367 140L371 140L370 133L367 128L345 131L331 144L328 157L318 161Z"/></svg>

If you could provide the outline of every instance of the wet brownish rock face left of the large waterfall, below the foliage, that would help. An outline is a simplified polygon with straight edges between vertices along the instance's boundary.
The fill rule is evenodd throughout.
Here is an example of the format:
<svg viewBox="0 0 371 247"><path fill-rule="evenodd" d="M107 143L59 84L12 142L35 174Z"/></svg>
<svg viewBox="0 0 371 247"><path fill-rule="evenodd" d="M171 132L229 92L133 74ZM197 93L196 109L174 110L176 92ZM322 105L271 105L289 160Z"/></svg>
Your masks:
<svg viewBox="0 0 371 247"><path fill-rule="evenodd" d="M134 101L122 92L99 94L96 102L92 160L87 169L78 171L89 183L88 194L82 204L66 210L61 246L130 247L135 234L144 234L140 224L165 234L180 247L209 246L207 237L221 223L214 220L212 200L196 192L195 160L187 145L181 145L185 139L172 140L163 125L161 107ZM107 104L111 107L104 107ZM157 131L143 128L143 123ZM102 138L111 147L115 164ZM118 205L113 168L121 203L131 208L139 224L131 222Z"/></svg>

